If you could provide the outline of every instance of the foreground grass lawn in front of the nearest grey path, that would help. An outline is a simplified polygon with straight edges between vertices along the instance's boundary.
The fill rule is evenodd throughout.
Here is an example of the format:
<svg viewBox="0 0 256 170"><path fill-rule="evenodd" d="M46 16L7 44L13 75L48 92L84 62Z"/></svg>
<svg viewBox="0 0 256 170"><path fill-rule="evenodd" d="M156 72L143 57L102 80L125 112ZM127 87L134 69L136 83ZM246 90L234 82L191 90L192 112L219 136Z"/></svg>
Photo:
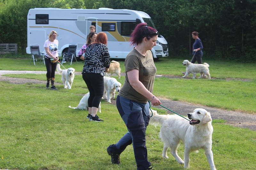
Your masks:
<svg viewBox="0 0 256 170"><path fill-rule="evenodd" d="M104 123L89 122L88 111L72 110L88 90L76 83L71 90L46 90L44 84L9 84L1 88L0 168L22 170L136 169L132 146L112 165L106 152L127 131L116 107L101 103ZM80 78L80 77L79 77ZM60 79L60 77L59 77ZM59 81L59 80L57 80ZM159 111L159 110L158 110ZM165 113L161 110L161 113ZM213 121L212 151L217 169L255 169L256 132ZM157 170L183 169L170 152L162 159L159 127L147 129L148 159ZM184 145L178 154L183 158ZM200 164L198 163L200 162ZM190 154L190 169L209 169L204 151Z"/></svg>

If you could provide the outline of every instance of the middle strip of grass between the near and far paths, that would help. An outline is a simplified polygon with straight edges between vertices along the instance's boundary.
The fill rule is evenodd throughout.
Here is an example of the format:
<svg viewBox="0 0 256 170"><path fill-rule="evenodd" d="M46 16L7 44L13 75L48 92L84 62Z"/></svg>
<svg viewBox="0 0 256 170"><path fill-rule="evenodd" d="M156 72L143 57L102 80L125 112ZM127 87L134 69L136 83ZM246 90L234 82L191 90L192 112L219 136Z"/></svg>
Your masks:
<svg viewBox="0 0 256 170"><path fill-rule="evenodd" d="M45 80L44 74L5 74L16 78ZM118 79L122 84L124 77ZM61 76L56 75L56 81L61 82ZM85 85L82 76L76 75L72 89ZM63 87L63 85L61 86ZM219 79L169 79L156 78L154 94L176 101L202 104L227 110L239 110L256 114L256 80L226 81Z"/></svg>

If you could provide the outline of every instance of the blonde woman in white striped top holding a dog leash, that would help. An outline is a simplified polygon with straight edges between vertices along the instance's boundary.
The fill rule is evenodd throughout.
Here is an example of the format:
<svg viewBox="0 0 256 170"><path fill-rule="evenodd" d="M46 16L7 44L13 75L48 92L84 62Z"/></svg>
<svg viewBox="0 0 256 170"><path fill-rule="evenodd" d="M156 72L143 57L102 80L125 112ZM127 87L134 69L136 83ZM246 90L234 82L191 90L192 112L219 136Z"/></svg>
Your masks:
<svg viewBox="0 0 256 170"><path fill-rule="evenodd" d="M59 41L57 38L57 32L51 31L49 34L49 39L47 39L44 42L44 49L45 49L45 66L46 66L46 88L49 88L50 80L51 80L51 90L57 90L57 88L54 86L55 81L55 70L57 67L57 61L59 60L58 55L58 45Z"/></svg>

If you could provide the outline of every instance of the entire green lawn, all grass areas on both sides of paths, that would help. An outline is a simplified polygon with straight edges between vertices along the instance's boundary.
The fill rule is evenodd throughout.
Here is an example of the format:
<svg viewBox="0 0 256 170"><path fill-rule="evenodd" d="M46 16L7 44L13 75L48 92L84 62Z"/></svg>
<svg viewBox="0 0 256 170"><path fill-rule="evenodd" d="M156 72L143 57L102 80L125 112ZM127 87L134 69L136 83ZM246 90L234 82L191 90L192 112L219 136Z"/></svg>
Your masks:
<svg viewBox="0 0 256 170"><path fill-rule="evenodd" d="M30 59L0 58L0 70L46 71L41 63L36 66ZM124 61L120 61L124 71ZM180 75L185 67L182 60L164 58L156 61L157 74ZM210 65L215 79L156 78L154 94L171 100L199 103L228 110L256 113L256 69L253 63L204 61ZM64 65L69 67L67 63ZM81 71L83 63L72 67ZM250 73L250 74L248 74ZM45 81L44 74L9 74ZM224 80L231 78L231 80ZM233 80L234 79L234 80ZM241 81L240 79L245 79ZM122 84L124 77L117 79ZM61 77L56 74L56 82ZM10 84L0 81L0 169L22 170L134 170L136 163L132 146L121 155L121 165L112 165L106 152L108 145L116 143L127 131L116 107L101 102L104 123L89 122L88 111L73 110L82 94L88 92L82 75L76 75L72 89L57 85L57 91L46 90L45 84ZM158 110L165 114L164 110ZM226 125L213 120L212 151L217 169L256 169L256 131ZM183 169L168 152L162 159L163 144L158 137L159 127L147 128L148 159L157 170ZM178 154L183 159L184 145ZM209 169L204 151L190 153L190 169Z"/></svg>

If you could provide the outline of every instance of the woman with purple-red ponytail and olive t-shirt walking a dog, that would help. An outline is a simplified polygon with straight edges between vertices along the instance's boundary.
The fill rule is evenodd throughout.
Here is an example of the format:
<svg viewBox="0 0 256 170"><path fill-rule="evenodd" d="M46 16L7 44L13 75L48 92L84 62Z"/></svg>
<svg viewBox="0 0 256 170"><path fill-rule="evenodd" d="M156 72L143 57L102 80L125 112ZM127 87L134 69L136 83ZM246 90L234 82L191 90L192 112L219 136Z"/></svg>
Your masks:
<svg viewBox="0 0 256 170"><path fill-rule="evenodd" d="M135 47L124 61L125 81L116 98L116 107L128 132L116 143L108 146L107 152L113 164L120 164L120 154L132 144L137 169L152 169L146 148L146 127L149 122L149 103L158 106L161 102L152 94L156 66L150 51L156 46L158 32L146 23L140 23L131 34Z"/></svg>

